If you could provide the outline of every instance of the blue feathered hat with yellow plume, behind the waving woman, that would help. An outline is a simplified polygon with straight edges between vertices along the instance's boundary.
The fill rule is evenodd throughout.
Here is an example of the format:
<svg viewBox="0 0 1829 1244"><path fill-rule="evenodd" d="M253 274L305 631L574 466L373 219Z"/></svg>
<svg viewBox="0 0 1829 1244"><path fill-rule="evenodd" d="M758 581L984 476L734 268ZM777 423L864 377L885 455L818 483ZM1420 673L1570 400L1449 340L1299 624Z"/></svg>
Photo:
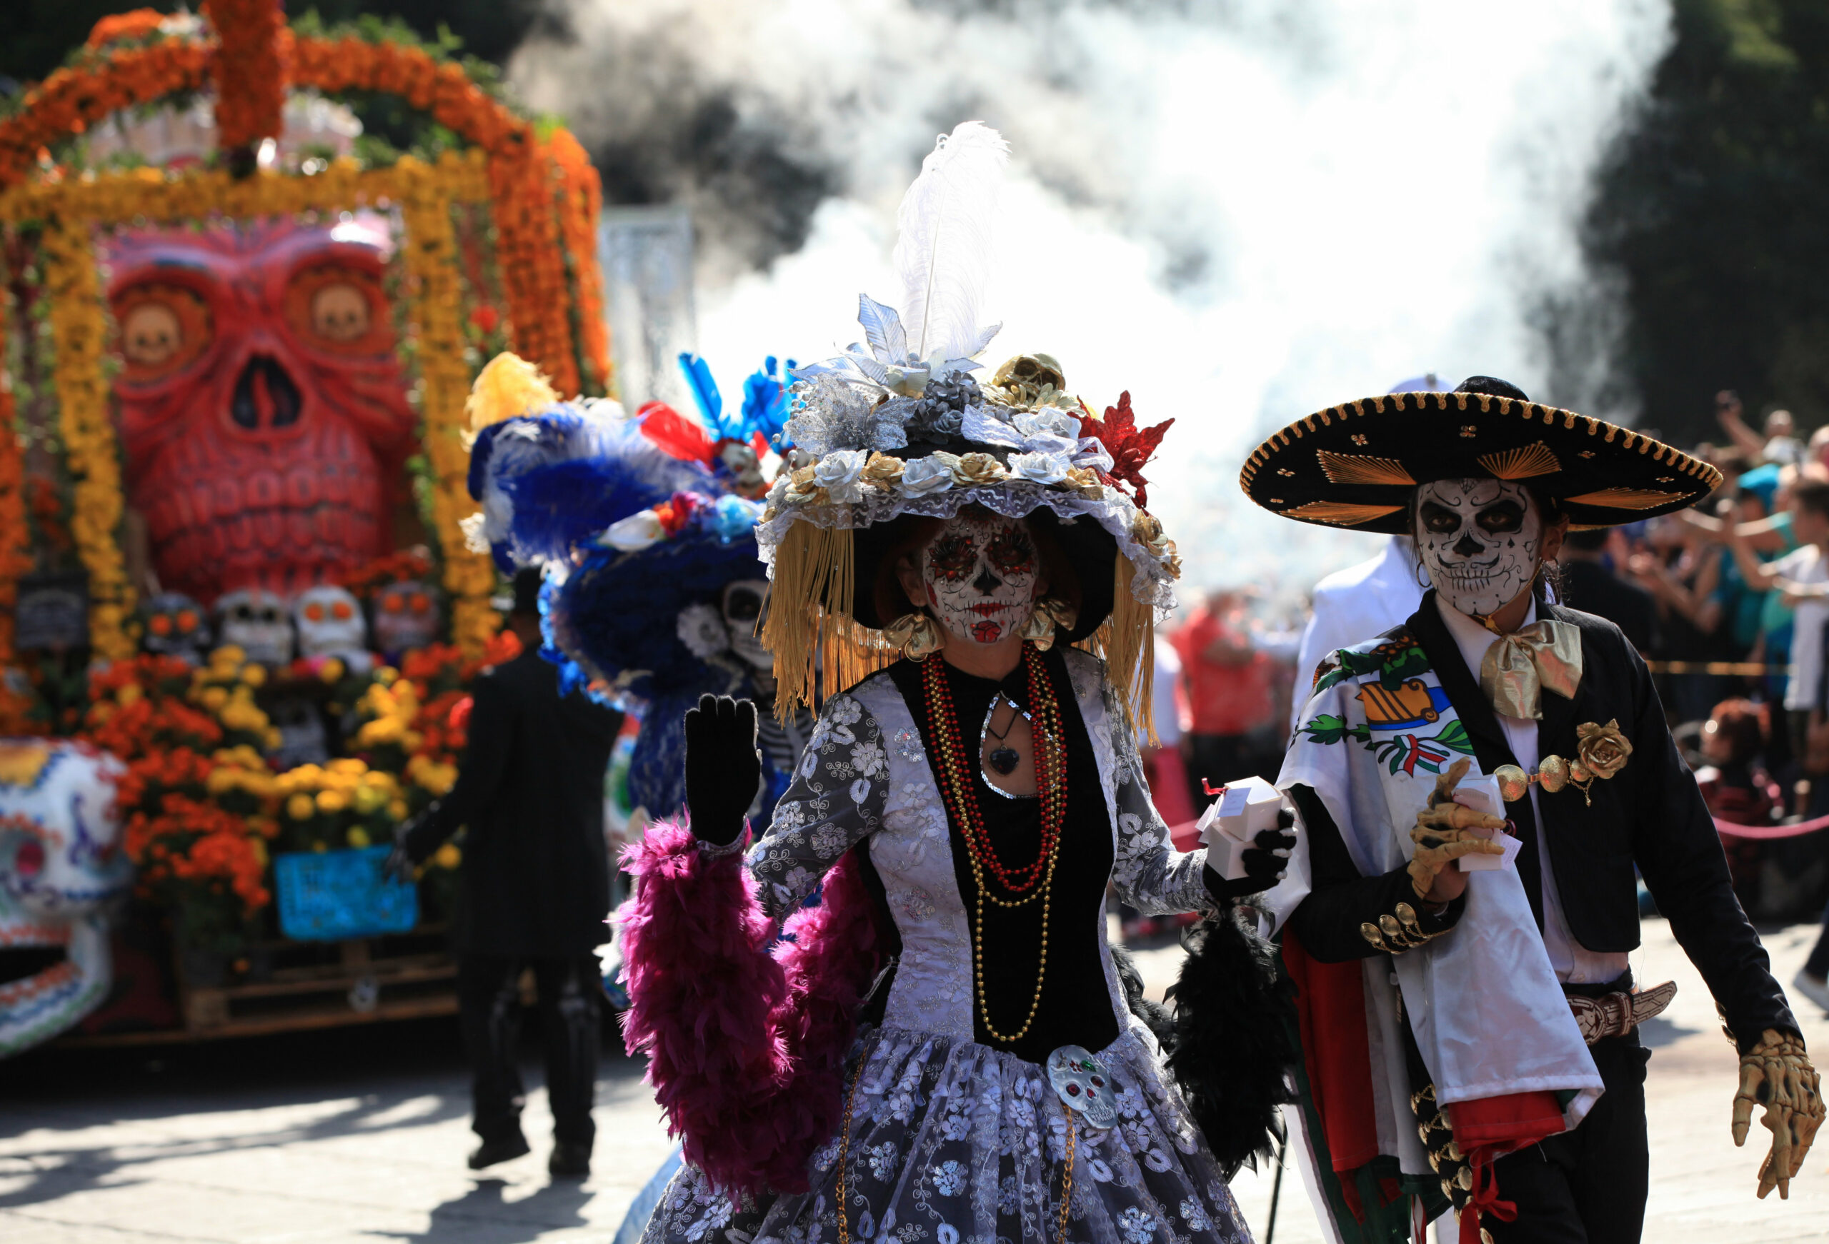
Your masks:
<svg viewBox="0 0 1829 1244"><path fill-rule="evenodd" d="M708 373L706 373L706 382ZM761 490L748 415L715 432L671 406L558 401L514 355L470 399L470 496L479 549L543 569L543 653L562 688L620 708L733 684L743 666L719 615L724 589L761 580ZM763 485L765 487L765 485Z"/></svg>

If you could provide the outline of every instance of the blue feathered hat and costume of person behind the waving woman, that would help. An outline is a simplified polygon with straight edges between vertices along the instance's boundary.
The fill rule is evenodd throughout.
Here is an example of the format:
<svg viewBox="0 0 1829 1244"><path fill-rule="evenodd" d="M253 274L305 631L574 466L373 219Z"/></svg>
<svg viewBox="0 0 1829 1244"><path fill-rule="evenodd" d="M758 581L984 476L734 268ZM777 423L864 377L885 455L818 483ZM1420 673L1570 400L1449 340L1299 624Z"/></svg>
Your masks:
<svg viewBox="0 0 1829 1244"><path fill-rule="evenodd" d="M754 525L759 459L779 434L774 360L750 377L744 410L722 415L702 360L682 357L704 423L649 402L551 402L487 424L470 456L472 536L497 565L545 567L541 655L562 690L585 688L642 721L629 803L649 816L684 805L684 713L704 693L763 706L766 818L786 790L807 721L781 726L768 655L752 638L766 591ZM766 483L763 483L766 487Z"/></svg>

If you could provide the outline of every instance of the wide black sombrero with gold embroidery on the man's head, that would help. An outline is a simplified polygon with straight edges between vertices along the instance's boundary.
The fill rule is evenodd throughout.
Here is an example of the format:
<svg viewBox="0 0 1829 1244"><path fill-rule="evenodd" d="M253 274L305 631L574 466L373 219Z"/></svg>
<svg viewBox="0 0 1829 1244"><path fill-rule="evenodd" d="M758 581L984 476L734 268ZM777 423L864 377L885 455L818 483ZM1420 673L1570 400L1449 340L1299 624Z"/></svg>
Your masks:
<svg viewBox="0 0 1829 1244"><path fill-rule="evenodd" d="M1251 452L1238 487L1302 523L1405 534L1410 498L1432 479L1527 483L1575 527L1611 527L1686 509L1721 472L1641 432L1471 377L1452 393L1385 393L1299 419Z"/></svg>

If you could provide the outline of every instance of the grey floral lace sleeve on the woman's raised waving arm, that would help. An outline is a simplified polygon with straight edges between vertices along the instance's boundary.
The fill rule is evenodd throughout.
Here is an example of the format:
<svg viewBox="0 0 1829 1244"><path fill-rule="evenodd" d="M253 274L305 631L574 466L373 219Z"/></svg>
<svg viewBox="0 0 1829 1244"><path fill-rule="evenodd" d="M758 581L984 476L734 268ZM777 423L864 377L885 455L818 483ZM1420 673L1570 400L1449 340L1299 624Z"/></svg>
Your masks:
<svg viewBox="0 0 1829 1244"><path fill-rule="evenodd" d="M883 823L889 757L876 717L849 693L825 702L794 785L748 854L763 909L777 920L814 891L825 871Z"/></svg>

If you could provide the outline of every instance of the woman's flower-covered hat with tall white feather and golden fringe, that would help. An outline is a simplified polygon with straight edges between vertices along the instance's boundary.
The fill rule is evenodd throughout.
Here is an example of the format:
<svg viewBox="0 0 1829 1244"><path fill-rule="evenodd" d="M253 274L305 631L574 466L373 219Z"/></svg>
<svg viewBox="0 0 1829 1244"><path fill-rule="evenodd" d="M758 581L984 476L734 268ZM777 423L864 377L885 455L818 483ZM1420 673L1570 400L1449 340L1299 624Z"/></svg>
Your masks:
<svg viewBox="0 0 1829 1244"><path fill-rule="evenodd" d="M865 340L792 371L796 468L775 479L755 529L777 710L810 697L816 651L834 688L894 657L876 569L916 516L1032 516L1081 580L1061 638L1101 651L1116 686L1134 686L1156 617L1174 607L1180 558L1145 509L1141 476L1169 424L1138 428L1128 393L1096 417L1041 353L973 377L1000 327L980 326L979 311L1008 150L977 121L940 135L898 214L900 306L860 296Z"/></svg>

